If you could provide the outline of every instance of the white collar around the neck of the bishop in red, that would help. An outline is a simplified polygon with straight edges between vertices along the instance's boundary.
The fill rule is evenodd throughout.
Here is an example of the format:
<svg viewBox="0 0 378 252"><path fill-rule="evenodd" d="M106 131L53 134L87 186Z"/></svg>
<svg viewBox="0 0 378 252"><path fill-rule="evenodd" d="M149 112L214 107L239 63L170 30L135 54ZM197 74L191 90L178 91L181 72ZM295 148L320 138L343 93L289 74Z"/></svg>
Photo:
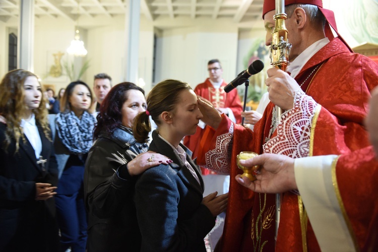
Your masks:
<svg viewBox="0 0 378 252"><path fill-rule="evenodd" d="M298 57L293 60L293 62L290 62L286 69L286 72L290 72L290 76L292 78L295 78L303 68L303 66L307 63L307 61L329 42L330 40L328 38L323 38L308 46L304 51L302 51L302 53L298 55Z"/></svg>

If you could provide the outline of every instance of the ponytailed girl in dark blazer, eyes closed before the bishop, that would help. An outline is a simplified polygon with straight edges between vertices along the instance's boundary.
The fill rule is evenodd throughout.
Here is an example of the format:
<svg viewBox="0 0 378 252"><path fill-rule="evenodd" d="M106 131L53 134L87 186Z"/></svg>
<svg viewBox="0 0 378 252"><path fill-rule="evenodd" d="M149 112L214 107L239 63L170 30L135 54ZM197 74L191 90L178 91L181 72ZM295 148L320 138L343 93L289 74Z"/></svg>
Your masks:
<svg viewBox="0 0 378 252"><path fill-rule="evenodd" d="M149 150L173 160L139 176L134 202L142 235L141 251L206 251L204 238L227 206L228 194L203 198L201 170L180 141L196 133L203 115L192 88L181 81L158 83L147 98L146 112L135 118L134 136L146 142L149 115L157 124ZM214 109L215 110L215 109ZM155 154L149 160L153 161Z"/></svg>

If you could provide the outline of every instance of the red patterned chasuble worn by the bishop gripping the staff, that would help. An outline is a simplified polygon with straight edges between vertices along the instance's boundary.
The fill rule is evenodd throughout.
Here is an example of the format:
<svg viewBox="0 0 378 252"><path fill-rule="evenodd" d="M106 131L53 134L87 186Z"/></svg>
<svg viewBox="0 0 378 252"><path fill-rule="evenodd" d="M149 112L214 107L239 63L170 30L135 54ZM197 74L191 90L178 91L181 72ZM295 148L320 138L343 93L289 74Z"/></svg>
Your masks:
<svg viewBox="0 0 378 252"><path fill-rule="evenodd" d="M322 65L323 64L323 65ZM316 127L313 129L312 155L343 154L365 148L369 145L367 133L363 127L363 118L367 111L367 101L370 90L377 84L378 66L367 57L350 53L345 44L338 38L332 40L305 64L298 74L296 81L301 83L306 79L306 73L314 66L322 65L308 85L306 94L322 105ZM254 203L244 200L241 196L244 188L234 180L239 173L236 166L236 155L240 151L255 151L261 153L264 137L268 136L272 120L273 104L270 103L263 118L255 125L255 133L235 125L232 138L231 179L227 220L221 243L217 251L253 251L256 243L251 238L251 211L254 211L255 223L264 218L269 209L275 205L275 195L266 195L264 211L262 208L263 194L254 195ZM222 121L225 127L229 123ZM202 143L212 142L217 136L228 132L228 129L217 129L210 138L202 139ZM259 137L257 137L259 136ZM263 137L264 136L264 137ZM207 155L212 149L208 144L200 156ZM201 160L199 163L201 163ZM252 197L251 197L252 198ZM248 209L249 208L249 209ZM260 219L259 219L260 218ZM265 218L264 218L265 220ZM310 220L309 220L310 221ZM307 222L306 243L308 251L319 251L319 245ZM259 233L264 251L273 251L274 225ZM240 235L240 230L247 232ZM251 246L251 244L253 244ZM278 231L276 251L301 250L302 233L300 228L299 208L297 196L292 192L283 194L281 208L281 222Z"/></svg>

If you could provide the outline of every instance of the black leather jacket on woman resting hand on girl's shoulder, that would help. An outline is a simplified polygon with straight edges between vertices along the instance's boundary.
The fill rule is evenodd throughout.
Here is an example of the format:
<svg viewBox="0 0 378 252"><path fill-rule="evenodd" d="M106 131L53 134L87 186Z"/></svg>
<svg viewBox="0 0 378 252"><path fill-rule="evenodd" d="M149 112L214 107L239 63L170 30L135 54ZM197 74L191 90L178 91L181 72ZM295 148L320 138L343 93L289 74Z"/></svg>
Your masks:
<svg viewBox="0 0 378 252"><path fill-rule="evenodd" d="M140 250L131 198L135 180L122 179L116 171L127 173L127 163L147 148L147 144L136 142L130 129L121 126L113 134L100 134L89 150L84 173L88 252Z"/></svg>

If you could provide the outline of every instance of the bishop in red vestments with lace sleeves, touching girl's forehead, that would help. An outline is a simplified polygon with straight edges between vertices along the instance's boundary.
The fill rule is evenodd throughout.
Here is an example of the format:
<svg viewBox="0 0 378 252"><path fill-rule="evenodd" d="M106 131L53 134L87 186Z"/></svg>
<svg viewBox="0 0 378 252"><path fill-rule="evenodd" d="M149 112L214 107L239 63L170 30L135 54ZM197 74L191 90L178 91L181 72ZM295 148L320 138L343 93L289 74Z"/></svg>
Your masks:
<svg viewBox="0 0 378 252"><path fill-rule="evenodd" d="M234 177L241 173L236 166L240 151L300 158L346 154L369 146L363 118L370 91L376 86L378 66L351 52L340 36L333 38L330 25L336 30L334 15L323 9L321 0L287 0L285 5L286 28L292 43L287 68L291 75L268 70L266 85L272 102L254 132L227 116L204 111L203 120L211 128L207 127L201 140L199 164ZM274 9L275 1L264 2L267 45L275 25ZM200 103L205 110L206 103ZM278 124L278 118L273 116L275 105L284 111ZM320 251L313 223L296 191L281 196L275 241L275 198L274 194L246 190L231 179L218 251Z"/></svg>

